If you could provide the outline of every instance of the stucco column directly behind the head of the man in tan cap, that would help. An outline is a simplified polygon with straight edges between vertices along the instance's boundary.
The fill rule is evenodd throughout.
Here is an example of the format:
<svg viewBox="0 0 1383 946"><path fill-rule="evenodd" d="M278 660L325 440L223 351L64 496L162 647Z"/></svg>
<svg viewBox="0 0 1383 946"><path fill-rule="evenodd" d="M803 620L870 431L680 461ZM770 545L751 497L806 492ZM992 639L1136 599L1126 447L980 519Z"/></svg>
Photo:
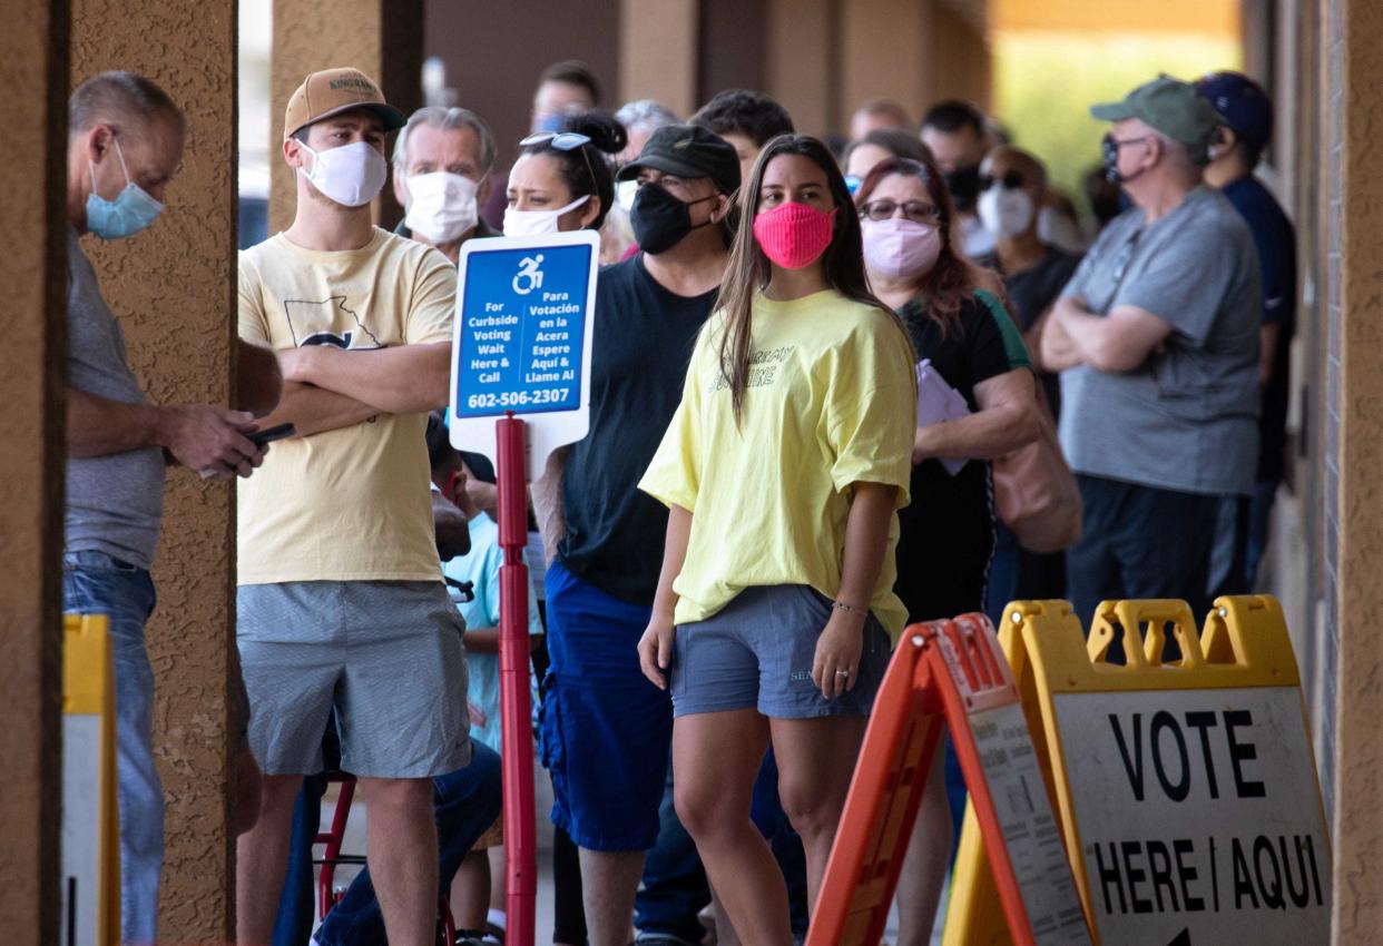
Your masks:
<svg viewBox="0 0 1383 946"><path fill-rule="evenodd" d="M502 15L496 8L495 15ZM455 36L459 44L472 36ZM293 223L296 184L284 163L284 108L307 73L355 66L379 83L404 115L422 105L423 0L274 0L274 54L270 65L268 231ZM393 148L390 136L389 147ZM393 227L402 212L393 188L375 201L375 220Z"/></svg>

